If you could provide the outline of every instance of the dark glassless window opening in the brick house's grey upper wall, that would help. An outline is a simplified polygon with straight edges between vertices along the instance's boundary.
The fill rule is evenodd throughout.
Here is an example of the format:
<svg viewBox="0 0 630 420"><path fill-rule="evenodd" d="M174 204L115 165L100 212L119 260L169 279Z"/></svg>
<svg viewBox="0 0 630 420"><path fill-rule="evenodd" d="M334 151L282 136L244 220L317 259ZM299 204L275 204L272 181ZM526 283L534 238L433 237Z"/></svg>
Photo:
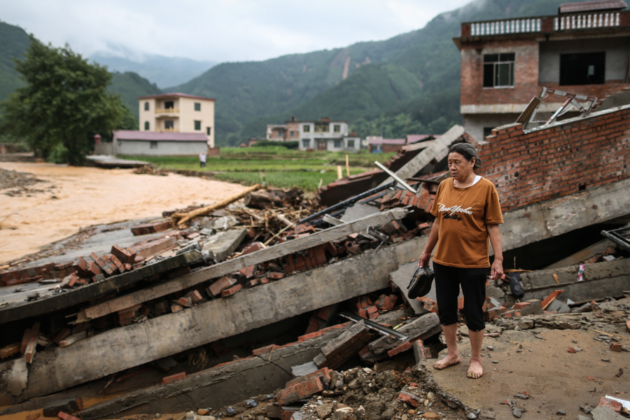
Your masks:
<svg viewBox="0 0 630 420"><path fill-rule="evenodd" d="M560 85L602 85L605 52L560 55Z"/></svg>

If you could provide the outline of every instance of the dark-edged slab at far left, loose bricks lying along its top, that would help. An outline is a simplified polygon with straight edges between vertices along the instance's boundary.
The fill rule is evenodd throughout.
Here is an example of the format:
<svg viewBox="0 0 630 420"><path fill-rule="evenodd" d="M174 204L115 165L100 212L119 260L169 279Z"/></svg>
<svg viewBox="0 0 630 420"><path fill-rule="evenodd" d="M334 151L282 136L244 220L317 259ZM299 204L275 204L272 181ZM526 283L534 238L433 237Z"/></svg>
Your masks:
<svg viewBox="0 0 630 420"><path fill-rule="evenodd" d="M107 295L108 293L114 293L120 290L120 288L130 286L153 275L162 274L163 272L167 272L171 269L181 267L183 265L190 265L200 260L202 260L202 254L199 251L190 251L181 255L175 255L174 257L167 258L166 260L155 262L155 264L134 269L131 272L125 272L123 274L119 274L118 276L109 277L109 279L99 281L98 283L87 284L86 286L70 290L66 293L46 295L41 299L34 300L33 302L10 304L6 307L0 308L0 324L28 318L29 316L48 314L52 311L75 306L81 302L87 302L87 300L94 299L95 297ZM107 304L108 302L105 303ZM118 309L108 313L125 309L125 307L132 307L135 303L132 302L131 304L127 304L127 306L119 307Z"/></svg>

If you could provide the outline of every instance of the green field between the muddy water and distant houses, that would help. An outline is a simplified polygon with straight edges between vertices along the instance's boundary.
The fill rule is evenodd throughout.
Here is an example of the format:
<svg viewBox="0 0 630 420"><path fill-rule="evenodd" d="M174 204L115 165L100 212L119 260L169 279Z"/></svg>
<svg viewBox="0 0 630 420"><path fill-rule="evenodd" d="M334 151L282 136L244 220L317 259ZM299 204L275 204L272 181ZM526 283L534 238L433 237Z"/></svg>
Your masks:
<svg viewBox="0 0 630 420"><path fill-rule="evenodd" d="M350 174L360 174L375 167L374 160L386 162L394 153L349 153ZM294 151L281 146L221 148L221 155L209 156L207 167L199 167L197 157L187 156L121 156L151 162L163 169L211 172L214 179L244 185L265 182L274 188L317 190L337 179L337 165L346 176L346 153Z"/></svg>

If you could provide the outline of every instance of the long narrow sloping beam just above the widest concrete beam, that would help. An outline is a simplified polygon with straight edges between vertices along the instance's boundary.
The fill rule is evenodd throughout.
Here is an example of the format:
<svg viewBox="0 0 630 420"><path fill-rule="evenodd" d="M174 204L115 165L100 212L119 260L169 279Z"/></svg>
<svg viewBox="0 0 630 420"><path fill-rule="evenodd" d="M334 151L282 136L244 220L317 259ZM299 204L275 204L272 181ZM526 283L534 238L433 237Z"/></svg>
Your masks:
<svg viewBox="0 0 630 420"><path fill-rule="evenodd" d="M98 316L104 316L111 314L110 307L118 307L120 302L125 302L125 307L133 306L134 304L148 302L149 300L156 299L170 293L178 292L186 288L195 286L204 281L210 279L216 279L217 277L225 276L231 272L250 267L251 265L259 264L269 260L280 258L284 255L303 251L304 249L312 248L321 244L326 244L330 241L336 241L351 235L354 232L360 232L367 229L368 226L379 226L393 220L398 220L407 214L405 209L391 209L388 211L374 214L366 218L354 221L352 223L344 223L343 225L334 226L320 232L316 232L313 235L307 237L301 237L293 239L292 241L283 242L268 248L255 251L246 255L242 255L233 260L221 262L220 264L213 265L211 267L201 269L197 272L186 274L179 279L168 281L167 283L158 284L151 288L145 288L138 290L137 292L130 293L129 295L116 297L116 299L103 302L102 304L95 305L85 309L85 316L87 319L94 319ZM92 318L94 316L94 318Z"/></svg>

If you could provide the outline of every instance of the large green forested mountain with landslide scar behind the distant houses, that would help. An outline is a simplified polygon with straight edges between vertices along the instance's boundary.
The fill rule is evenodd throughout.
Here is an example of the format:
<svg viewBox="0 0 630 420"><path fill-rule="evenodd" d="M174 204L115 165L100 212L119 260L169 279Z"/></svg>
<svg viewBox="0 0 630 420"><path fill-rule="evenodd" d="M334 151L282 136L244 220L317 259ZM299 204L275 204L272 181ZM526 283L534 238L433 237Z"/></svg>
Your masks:
<svg viewBox="0 0 630 420"><path fill-rule="evenodd" d="M564 2L474 0L386 41L219 64L176 90L217 99L217 143L224 145L263 136L266 124L290 116L345 119L362 136L443 132L461 120L452 41L461 22L553 15Z"/></svg>

